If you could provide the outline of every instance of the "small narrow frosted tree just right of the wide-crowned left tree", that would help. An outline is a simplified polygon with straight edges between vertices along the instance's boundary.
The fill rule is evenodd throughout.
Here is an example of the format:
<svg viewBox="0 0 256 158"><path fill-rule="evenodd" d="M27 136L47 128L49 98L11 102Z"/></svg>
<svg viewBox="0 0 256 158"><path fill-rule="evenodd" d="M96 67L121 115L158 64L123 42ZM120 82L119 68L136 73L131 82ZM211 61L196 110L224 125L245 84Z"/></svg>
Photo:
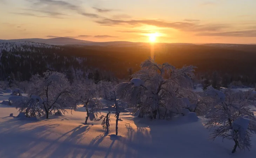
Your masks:
<svg viewBox="0 0 256 158"><path fill-rule="evenodd" d="M88 118L91 121L95 120L102 108L101 102L97 99L98 87L96 84L81 86L80 99L83 107L86 109L85 124L87 124Z"/></svg>

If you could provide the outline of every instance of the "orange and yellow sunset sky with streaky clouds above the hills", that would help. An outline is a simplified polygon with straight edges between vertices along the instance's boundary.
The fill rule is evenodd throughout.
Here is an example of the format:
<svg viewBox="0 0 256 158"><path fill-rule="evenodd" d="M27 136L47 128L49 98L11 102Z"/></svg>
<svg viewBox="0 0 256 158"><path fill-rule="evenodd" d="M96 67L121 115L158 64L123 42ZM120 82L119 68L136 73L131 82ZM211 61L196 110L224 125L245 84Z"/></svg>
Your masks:
<svg viewBox="0 0 256 158"><path fill-rule="evenodd" d="M0 39L256 43L256 0L0 0Z"/></svg>

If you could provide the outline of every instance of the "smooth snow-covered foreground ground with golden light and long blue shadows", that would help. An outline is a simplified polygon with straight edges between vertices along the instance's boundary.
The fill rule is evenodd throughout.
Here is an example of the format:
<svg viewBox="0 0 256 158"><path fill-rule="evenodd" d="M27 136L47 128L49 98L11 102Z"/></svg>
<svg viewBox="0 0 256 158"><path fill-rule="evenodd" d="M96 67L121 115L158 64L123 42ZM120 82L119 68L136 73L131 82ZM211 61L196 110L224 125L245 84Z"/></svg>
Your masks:
<svg viewBox="0 0 256 158"><path fill-rule="evenodd" d="M8 94L0 100L8 100ZM0 104L1 158L252 158L256 155L256 137L251 151L231 154L233 141L217 138L208 141L209 131L196 121L194 113L173 120L137 118L121 113L119 134L115 136L115 117L111 114L110 134L104 134L101 122L84 125L86 113L81 110L49 120L20 120L17 110ZM106 115L106 112L102 113Z"/></svg>

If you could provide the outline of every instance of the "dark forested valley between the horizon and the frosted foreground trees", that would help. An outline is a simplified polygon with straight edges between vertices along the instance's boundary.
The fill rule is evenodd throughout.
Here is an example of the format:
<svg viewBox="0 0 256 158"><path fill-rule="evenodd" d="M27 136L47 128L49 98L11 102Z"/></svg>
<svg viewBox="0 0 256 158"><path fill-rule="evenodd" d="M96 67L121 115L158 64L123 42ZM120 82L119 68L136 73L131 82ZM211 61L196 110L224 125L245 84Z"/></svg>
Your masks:
<svg viewBox="0 0 256 158"><path fill-rule="evenodd" d="M212 80L213 72L217 71L222 86L233 81L250 86L256 83L256 53L250 45L248 49L246 46L241 50L192 44L129 47L12 44L8 49L0 46L0 79L13 77L23 81L46 70L66 73L71 82L81 78L93 78L95 81L129 79L132 73L140 69L142 61L155 55L159 64L168 62L178 68L183 65L196 66L198 80Z"/></svg>

